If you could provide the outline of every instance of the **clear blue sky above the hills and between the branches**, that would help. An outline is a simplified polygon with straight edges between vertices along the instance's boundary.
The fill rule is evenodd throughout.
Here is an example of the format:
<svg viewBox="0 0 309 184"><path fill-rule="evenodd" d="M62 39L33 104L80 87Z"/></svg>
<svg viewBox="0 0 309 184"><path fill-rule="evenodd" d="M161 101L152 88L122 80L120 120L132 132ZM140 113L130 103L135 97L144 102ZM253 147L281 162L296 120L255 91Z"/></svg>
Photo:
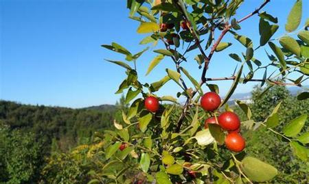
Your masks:
<svg viewBox="0 0 309 184"><path fill-rule="evenodd" d="M246 0L236 18L252 12L263 1ZM264 8L279 18L280 27L274 38L284 34L293 3L294 0L272 0ZM301 26L309 17L308 7L309 1L304 0ZM117 42L137 53L146 47L138 43L147 36L136 33L138 25L128 18L124 0L0 0L0 99L63 107L114 104L120 97L114 93L125 74L119 66L104 62L104 58L124 61L124 57L103 49L100 44ZM241 23L241 27L240 34L258 45L258 16ZM233 42L235 47L215 53L208 77L229 77L239 63L228 54L240 55L245 51L231 36L223 41ZM137 61L142 82L157 81L165 75L165 68L174 69L170 60L163 60L145 77L148 64L155 56L151 50L159 46L152 47ZM196 52L188 55L191 57L185 67L199 80L201 70L193 60L195 55ZM267 61L264 49L255 53L255 57ZM230 84L229 81L218 83L221 96ZM236 92L250 92L253 85L240 85ZM176 96L178 91L170 81L157 94Z"/></svg>

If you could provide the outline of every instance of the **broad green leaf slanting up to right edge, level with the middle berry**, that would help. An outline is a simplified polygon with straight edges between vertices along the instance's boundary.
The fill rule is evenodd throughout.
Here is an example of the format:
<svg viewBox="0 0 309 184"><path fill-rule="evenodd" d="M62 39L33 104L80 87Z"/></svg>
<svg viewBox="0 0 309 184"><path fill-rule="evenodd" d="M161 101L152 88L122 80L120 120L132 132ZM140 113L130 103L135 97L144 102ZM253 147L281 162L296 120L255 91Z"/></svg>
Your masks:
<svg viewBox="0 0 309 184"><path fill-rule="evenodd" d="M291 120L283 128L284 135L288 137L295 137L304 127L306 120L307 120L307 114L302 114L301 116L298 116L297 118Z"/></svg>

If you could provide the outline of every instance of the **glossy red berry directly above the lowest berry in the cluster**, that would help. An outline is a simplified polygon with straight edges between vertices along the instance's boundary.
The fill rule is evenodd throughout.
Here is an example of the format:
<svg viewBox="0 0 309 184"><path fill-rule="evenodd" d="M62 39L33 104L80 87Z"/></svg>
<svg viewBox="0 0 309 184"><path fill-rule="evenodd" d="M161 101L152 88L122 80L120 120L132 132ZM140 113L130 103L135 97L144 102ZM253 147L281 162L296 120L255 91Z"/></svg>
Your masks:
<svg viewBox="0 0 309 184"><path fill-rule="evenodd" d="M236 131L240 127L240 120L238 116L231 111L226 111L220 114L218 117L218 122L222 129L227 131Z"/></svg>

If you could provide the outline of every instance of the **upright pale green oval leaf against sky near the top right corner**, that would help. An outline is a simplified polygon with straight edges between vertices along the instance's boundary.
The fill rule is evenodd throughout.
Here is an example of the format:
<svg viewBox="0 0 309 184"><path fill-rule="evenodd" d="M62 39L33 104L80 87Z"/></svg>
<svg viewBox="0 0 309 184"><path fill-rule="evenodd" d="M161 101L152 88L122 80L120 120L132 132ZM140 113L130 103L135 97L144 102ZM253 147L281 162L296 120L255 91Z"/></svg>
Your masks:
<svg viewBox="0 0 309 184"><path fill-rule="evenodd" d="M288 21L286 22L286 31L295 31L295 29L299 26L303 10L302 6L302 1L297 0L292 10L290 10L290 13L288 14Z"/></svg>

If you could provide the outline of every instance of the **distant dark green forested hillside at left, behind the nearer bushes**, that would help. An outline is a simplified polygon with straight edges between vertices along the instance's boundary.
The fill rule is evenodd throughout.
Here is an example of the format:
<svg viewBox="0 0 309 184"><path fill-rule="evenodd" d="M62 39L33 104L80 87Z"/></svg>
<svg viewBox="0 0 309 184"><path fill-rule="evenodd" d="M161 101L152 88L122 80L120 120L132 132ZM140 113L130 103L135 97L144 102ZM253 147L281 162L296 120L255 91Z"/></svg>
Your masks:
<svg viewBox="0 0 309 184"><path fill-rule="evenodd" d="M10 129L34 133L45 145L56 140L58 148L65 151L89 142L94 131L111 127L117 108L115 105L102 107L69 109L0 101L0 120Z"/></svg>

